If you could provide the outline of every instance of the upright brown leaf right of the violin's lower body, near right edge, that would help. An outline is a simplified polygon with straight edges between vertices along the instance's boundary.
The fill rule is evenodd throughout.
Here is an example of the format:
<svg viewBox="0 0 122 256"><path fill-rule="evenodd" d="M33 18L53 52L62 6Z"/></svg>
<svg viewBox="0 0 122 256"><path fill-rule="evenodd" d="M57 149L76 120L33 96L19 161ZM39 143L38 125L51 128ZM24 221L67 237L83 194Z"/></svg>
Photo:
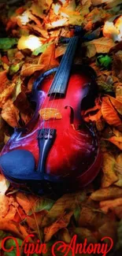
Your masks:
<svg viewBox="0 0 122 256"><path fill-rule="evenodd" d="M103 153L103 161L102 161L102 187L109 187L111 184L118 180L116 176L114 166L116 164L116 160L113 157L113 154L109 152Z"/></svg>

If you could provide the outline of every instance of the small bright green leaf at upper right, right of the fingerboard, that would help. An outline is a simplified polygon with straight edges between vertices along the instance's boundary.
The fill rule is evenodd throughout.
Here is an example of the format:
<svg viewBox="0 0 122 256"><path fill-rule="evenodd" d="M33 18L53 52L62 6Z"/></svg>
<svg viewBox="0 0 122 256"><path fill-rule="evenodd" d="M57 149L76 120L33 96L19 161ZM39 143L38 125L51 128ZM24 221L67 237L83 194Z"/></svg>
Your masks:
<svg viewBox="0 0 122 256"><path fill-rule="evenodd" d="M109 65L112 63L112 58L109 57L109 55L100 55L97 58L96 64L100 65L106 69L109 68Z"/></svg>

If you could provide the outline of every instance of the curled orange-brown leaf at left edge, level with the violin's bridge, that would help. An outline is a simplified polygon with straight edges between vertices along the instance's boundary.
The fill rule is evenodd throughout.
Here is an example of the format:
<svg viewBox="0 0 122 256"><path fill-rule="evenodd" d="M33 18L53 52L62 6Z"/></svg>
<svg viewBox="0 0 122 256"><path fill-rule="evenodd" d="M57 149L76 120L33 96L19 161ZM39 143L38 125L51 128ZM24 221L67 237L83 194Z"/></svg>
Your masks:
<svg viewBox="0 0 122 256"><path fill-rule="evenodd" d="M13 106L11 99L2 107L2 118L13 128L18 126L19 110Z"/></svg>

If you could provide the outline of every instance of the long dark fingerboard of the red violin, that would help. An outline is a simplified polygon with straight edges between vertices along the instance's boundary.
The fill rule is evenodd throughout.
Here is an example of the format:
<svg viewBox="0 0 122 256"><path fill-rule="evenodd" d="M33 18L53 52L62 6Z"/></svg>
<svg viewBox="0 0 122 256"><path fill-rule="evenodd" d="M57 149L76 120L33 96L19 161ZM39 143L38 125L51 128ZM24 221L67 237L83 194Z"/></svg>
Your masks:
<svg viewBox="0 0 122 256"><path fill-rule="evenodd" d="M48 96L52 94L65 95L78 40L79 36L74 36L69 40L67 50L61 59L59 68L54 76L53 83L50 86Z"/></svg>

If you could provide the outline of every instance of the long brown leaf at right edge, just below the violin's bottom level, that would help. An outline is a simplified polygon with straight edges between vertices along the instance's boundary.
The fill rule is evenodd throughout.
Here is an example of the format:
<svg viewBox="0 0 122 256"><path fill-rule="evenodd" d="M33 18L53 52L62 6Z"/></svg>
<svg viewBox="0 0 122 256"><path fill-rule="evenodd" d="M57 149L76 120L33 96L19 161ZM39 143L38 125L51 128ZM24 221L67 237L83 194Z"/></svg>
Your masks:
<svg viewBox="0 0 122 256"><path fill-rule="evenodd" d="M122 188L115 186L100 188L91 194L91 199L98 202L120 197L122 197Z"/></svg>

